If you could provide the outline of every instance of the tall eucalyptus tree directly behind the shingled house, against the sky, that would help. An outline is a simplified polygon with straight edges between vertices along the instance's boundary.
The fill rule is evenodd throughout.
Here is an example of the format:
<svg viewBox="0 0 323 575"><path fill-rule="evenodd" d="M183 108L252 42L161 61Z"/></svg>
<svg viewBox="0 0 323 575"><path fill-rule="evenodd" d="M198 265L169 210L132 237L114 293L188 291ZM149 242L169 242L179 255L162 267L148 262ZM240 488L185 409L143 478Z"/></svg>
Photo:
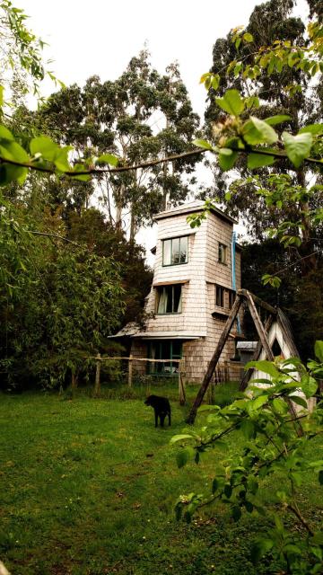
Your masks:
<svg viewBox="0 0 323 575"><path fill-rule="evenodd" d="M199 123L179 67L171 65L166 75L159 75L146 50L131 58L116 81L101 83L92 76L83 88L72 85L54 93L39 111L38 121L42 131L74 146L78 158L114 154L119 164L129 166L193 149ZM171 170L165 164L102 174L97 192L110 223L121 228L128 213L134 240L137 227L149 222L166 198L173 204L185 199L185 176L193 173L195 164L196 157L188 157L170 162ZM74 199L75 183L67 186L66 199ZM83 184L83 193L86 205L94 193L91 182Z"/></svg>

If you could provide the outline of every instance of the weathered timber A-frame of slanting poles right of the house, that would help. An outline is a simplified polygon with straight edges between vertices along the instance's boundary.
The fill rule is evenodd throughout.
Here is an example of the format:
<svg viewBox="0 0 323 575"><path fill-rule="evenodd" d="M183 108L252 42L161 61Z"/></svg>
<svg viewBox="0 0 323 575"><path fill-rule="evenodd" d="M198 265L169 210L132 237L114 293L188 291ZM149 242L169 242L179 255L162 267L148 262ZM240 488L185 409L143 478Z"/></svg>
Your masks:
<svg viewBox="0 0 323 575"><path fill-rule="evenodd" d="M260 357L260 354L263 350L264 350L266 359L268 359L269 361L274 360L274 353L272 350L272 346L270 345L269 340L268 340L268 332L269 332L270 328L272 327L273 323L276 323L279 326L281 332L283 333L284 340L287 341L288 348L291 351L291 357L299 357L298 350L297 350L295 343L292 339L292 331L291 331L290 323L289 323L288 319L286 318L286 316L284 315L284 313L282 312L282 310L278 307L273 307L273 305L267 304L262 299L260 299L258 296L251 294L251 292L249 292L247 289L238 290L237 296L236 296L234 303L231 307L231 312L230 312L228 319L224 325L223 332L220 336L220 339L219 339L218 344L216 346L216 349L214 351L214 355L210 360L209 366L208 366L207 371L205 373L205 377L204 377L203 382L202 382L202 384L198 390L198 393L196 395L196 400L193 403L191 410L189 411L188 418L186 420L187 423L194 423L194 420L196 418L196 411L200 407L201 403L203 402L206 390L207 390L207 388L208 388L208 386L212 380L212 377L214 376L214 370L218 365L220 356L223 352L224 345L225 345L225 343L229 337L229 334L231 332L231 327L232 327L233 323L235 322L235 320L237 319L237 316L238 316L239 311L240 311L240 306L243 303L246 303L248 305L250 315L252 317L252 320L255 324L255 327L256 327L256 330L257 330L258 336L259 336L258 345L257 345L257 348L255 349L254 355L252 357L253 361L258 360L258 358ZM261 307L262 309L266 310L266 313L268 314L265 325L263 325L263 323L261 322L260 315L258 314L258 310L257 310L257 305L258 305L258 307ZM243 391L246 389L252 372L253 372L252 367L249 368L245 372L245 374L242 377L241 382L240 382L240 391ZM290 407L290 411L292 411L292 413L295 414L294 407L293 407L292 403L290 403L289 407Z"/></svg>

